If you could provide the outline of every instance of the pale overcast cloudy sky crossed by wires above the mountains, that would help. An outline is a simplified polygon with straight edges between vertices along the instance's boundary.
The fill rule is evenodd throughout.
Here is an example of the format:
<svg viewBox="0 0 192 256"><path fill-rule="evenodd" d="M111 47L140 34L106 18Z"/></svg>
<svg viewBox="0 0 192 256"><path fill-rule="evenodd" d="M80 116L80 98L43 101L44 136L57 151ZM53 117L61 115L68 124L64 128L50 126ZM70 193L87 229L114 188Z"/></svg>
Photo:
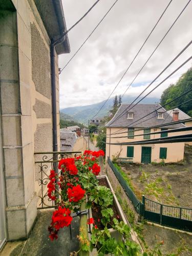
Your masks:
<svg viewBox="0 0 192 256"><path fill-rule="evenodd" d="M69 29L95 2L96 0L62 0L67 28ZM71 53L59 56L60 68L65 66L114 2L115 0L100 0L69 32ZM112 96L124 93L187 2L188 0L172 1ZM169 0L118 0L94 34L60 74L60 108L93 104L108 98L168 3ZM188 44L192 39L191 13L192 1L126 94L137 96ZM158 78L154 86L179 67L191 55L191 50L192 46ZM177 81L191 65L192 61L189 61L155 90L151 97L160 97L162 91L170 83ZM150 89L152 88L153 86Z"/></svg>

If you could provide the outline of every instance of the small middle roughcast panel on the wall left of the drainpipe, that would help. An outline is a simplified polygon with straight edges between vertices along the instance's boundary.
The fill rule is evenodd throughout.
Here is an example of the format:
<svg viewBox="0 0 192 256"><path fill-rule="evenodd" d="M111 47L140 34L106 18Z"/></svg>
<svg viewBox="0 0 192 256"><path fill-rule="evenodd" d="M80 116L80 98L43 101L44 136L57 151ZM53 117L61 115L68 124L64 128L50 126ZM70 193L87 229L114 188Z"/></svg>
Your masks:
<svg viewBox="0 0 192 256"><path fill-rule="evenodd" d="M35 99L33 110L37 118L52 118L51 105L44 101Z"/></svg>

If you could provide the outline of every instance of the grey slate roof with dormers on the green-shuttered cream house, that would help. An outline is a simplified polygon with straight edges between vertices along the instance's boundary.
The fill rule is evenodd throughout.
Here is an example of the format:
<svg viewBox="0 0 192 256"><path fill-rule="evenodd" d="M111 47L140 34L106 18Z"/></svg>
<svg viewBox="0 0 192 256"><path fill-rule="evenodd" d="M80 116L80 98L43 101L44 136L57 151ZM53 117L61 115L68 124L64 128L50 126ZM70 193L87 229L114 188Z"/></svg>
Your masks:
<svg viewBox="0 0 192 256"><path fill-rule="evenodd" d="M156 116L156 112L148 115L147 117L144 117L145 115L147 115L147 113L151 113L155 109L158 109L161 106L158 103L157 104L132 104L132 106L133 106L132 110L125 111L125 113L118 120L115 120L116 118L118 118L123 113L123 111L126 108L129 107L129 105L130 104L124 104L124 103L121 104L120 108L118 109L118 111L116 112L114 117L105 126L106 127L126 127L126 126L130 126L130 127L150 127L150 126L153 126L153 125L173 122L172 116L170 116L166 112L164 113L164 119L158 119L157 116ZM127 110L129 110L129 108ZM158 112L164 112L164 111L166 111L164 108L161 108L161 109L158 110ZM127 119L127 113L128 112L129 113L134 113L133 119ZM137 122L135 122L135 121L137 121L141 117L144 117L144 118L139 120L138 124L137 124ZM135 122L135 123L133 123L133 122ZM169 128L169 127L179 128L179 127L184 127L184 126L185 126L184 124L179 123L179 124L173 124L173 125L166 125L165 127L167 127L167 128Z"/></svg>

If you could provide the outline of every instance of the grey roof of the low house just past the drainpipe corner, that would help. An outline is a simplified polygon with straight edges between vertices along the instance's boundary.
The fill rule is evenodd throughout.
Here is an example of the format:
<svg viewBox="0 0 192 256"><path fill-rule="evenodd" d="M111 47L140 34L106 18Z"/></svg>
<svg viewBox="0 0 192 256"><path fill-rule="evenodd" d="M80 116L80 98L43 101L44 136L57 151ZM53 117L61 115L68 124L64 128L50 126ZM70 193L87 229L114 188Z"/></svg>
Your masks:
<svg viewBox="0 0 192 256"><path fill-rule="evenodd" d="M73 151L77 138L77 134L74 132L60 132L61 151Z"/></svg>

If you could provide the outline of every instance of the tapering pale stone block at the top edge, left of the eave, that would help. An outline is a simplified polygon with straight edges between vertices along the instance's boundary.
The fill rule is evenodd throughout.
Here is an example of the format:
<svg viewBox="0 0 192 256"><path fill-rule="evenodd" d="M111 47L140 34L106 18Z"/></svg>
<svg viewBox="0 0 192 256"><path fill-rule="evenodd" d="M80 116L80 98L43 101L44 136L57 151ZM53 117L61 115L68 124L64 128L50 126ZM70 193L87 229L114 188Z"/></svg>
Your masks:
<svg viewBox="0 0 192 256"><path fill-rule="evenodd" d="M29 13L30 13L30 8L28 1L26 0L18 0L17 2L17 12L20 15L20 17L23 19L24 24L30 31L30 19L29 19ZM18 15L17 15L18 18Z"/></svg>

